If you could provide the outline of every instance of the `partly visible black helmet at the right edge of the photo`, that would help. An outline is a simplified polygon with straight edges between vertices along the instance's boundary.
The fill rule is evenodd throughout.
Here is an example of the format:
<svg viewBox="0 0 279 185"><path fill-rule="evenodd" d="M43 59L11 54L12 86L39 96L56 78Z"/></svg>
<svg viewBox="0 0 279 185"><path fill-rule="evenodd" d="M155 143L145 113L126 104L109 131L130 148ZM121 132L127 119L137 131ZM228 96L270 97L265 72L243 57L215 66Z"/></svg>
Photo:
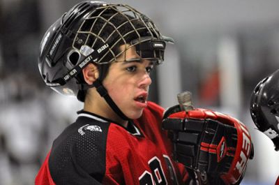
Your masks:
<svg viewBox="0 0 279 185"><path fill-rule="evenodd" d="M265 77L252 92L251 117L259 128L279 150L279 70Z"/></svg>

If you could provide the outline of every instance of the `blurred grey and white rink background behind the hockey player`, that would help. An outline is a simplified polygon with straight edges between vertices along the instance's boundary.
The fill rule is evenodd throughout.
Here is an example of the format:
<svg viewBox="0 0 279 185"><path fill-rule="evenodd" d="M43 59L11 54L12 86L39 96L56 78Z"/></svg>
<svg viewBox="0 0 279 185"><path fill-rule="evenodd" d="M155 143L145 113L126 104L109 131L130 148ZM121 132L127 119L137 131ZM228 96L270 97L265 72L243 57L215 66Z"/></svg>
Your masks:
<svg viewBox="0 0 279 185"><path fill-rule="evenodd" d="M40 39L77 0L0 0L0 185L33 184L52 141L82 103L47 89L38 73ZM279 68L279 1L107 1L128 3L167 36L165 62L153 73L150 100L176 104L191 91L195 107L241 120L255 158L241 184L274 184L279 153L250 118L253 88Z"/></svg>

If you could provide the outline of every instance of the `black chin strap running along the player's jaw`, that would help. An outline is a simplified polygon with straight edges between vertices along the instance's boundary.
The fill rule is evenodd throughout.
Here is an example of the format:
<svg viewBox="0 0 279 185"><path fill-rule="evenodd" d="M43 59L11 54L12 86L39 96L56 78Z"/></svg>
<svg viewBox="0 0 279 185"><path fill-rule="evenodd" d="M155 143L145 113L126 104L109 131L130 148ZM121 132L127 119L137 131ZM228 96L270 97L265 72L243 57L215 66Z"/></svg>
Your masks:
<svg viewBox="0 0 279 185"><path fill-rule="evenodd" d="M119 117L121 117L123 120L129 120L129 118L126 117L126 115L123 114L123 112L117 107L117 105L114 103L112 98L110 98L110 95L107 93L107 89L105 89L105 87L103 86L102 82L99 79L97 79L95 82L93 82L93 87L96 87L100 96L105 98L105 101L107 102L107 104L110 105L110 108L112 108L112 110L114 110L114 112Z"/></svg>

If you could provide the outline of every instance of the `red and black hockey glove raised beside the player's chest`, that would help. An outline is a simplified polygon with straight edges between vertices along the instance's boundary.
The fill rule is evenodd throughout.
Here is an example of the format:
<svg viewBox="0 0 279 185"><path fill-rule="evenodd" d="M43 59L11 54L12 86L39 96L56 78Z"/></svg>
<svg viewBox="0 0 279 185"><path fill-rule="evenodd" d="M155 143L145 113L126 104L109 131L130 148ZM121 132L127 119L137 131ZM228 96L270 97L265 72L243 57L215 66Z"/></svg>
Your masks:
<svg viewBox="0 0 279 185"><path fill-rule="evenodd" d="M253 149L244 124L205 109L169 108L163 129L174 143L174 159L186 165L202 184L239 184ZM196 177L197 179L197 177Z"/></svg>

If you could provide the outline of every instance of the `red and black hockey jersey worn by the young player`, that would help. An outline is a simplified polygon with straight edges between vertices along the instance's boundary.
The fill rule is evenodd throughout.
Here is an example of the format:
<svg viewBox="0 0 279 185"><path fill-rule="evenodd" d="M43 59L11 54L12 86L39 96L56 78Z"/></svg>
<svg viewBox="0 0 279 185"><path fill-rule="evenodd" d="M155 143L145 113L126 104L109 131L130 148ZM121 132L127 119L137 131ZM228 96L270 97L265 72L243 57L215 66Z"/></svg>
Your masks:
<svg viewBox="0 0 279 185"><path fill-rule="evenodd" d="M188 173L172 161L172 144L162 131L163 108L148 103L128 127L90 112L56 140L35 180L53 184L184 184Z"/></svg>

